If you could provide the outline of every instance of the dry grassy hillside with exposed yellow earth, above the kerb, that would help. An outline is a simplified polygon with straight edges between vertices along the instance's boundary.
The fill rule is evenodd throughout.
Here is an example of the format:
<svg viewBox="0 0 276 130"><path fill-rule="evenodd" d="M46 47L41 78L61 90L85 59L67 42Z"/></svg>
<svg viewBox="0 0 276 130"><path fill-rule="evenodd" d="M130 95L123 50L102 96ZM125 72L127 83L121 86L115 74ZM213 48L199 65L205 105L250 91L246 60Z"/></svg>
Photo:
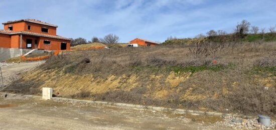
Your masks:
<svg viewBox="0 0 276 130"><path fill-rule="evenodd" d="M53 87L70 98L275 115L275 55L271 42L87 50L51 57L9 88L40 95L42 87Z"/></svg>

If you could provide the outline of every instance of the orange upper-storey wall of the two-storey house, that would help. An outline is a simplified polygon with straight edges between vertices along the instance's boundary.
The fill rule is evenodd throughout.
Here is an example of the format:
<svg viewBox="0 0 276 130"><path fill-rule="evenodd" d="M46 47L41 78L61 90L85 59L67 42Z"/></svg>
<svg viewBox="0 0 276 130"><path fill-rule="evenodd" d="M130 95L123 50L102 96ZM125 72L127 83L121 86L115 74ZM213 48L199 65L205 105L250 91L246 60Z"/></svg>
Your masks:
<svg viewBox="0 0 276 130"><path fill-rule="evenodd" d="M31 26L31 30L28 30L28 25ZM40 33L40 34L47 34L47 35L57 35L57 28L47 25L40 25L31 22L18 22L13 24L4 25L4 29L8 30L9 26L13 26L13 32L33 32L33 33ZM48 33L41 32L41 28L46 27L48 28Z"/></svg>

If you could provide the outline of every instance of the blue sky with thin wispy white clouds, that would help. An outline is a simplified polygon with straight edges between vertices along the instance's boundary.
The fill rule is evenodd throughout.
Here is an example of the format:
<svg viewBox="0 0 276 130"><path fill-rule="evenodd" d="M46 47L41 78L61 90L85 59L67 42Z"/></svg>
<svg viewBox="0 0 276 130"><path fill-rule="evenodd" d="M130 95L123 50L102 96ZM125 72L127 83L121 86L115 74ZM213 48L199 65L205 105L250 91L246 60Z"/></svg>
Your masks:
<svg viewBox="0 0 276 130"><path fill-rule="evenodd" d="M275 7L274 0L1 0L0 23L37 19L58 25L57 34L67 38L112 33L121 43L164 42L212 29L231 33L242 20L268 30L276 25Z"/></svg>

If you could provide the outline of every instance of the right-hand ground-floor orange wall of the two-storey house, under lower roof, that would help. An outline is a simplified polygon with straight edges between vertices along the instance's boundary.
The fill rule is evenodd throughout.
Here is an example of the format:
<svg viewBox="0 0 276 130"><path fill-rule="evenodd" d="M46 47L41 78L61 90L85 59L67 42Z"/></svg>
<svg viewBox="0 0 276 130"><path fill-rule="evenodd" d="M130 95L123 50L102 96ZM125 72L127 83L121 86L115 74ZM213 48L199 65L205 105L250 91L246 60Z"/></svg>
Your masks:
<svg viewBox="0 0 276 130"><path fill-rule="evenodd" d="M44 40L49 40L51 41L51 44L44 44ZM44 38L41 37L39 41L39 49L44 49L44 50L61 50L61 43L65 42L67 43L67 50L70 49L70 41L69 40L61 40L61 39L53 39L53 38Z"/></svg>

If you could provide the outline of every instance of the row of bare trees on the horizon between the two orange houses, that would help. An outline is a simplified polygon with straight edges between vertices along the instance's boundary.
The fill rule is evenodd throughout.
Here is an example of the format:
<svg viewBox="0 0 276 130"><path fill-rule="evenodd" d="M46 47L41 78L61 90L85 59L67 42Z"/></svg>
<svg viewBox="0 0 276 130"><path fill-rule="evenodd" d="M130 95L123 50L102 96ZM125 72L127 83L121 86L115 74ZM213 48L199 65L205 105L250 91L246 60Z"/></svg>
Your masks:
<svg viewBox="0 0 276 130"><path fill-rule="evenodd" d="M85 38L71 38L71 46L77 46L80 44L88 44L88 43L104 43L104 44L117 44L119 43L120 38L115 34L108 34L103 38L93 37L91 41L87 41Z"/></svg>

